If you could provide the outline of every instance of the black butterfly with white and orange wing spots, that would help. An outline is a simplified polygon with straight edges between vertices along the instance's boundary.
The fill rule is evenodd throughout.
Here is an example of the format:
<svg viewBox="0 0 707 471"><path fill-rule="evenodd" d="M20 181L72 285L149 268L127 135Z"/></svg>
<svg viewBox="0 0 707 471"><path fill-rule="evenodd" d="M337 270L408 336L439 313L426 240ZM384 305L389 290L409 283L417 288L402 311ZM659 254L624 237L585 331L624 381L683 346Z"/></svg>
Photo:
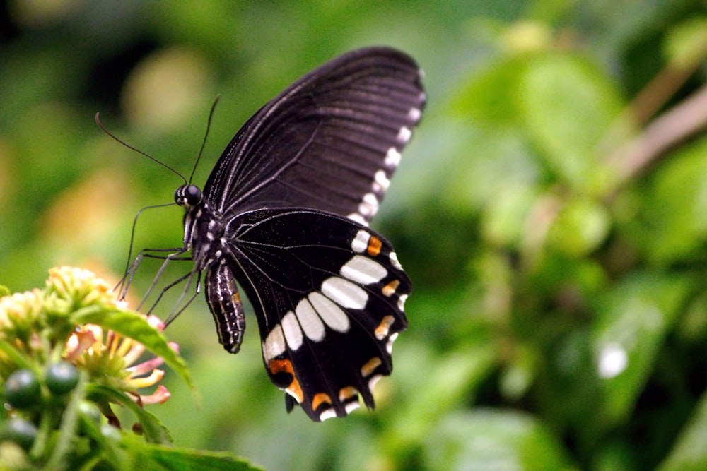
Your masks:
<svg viewBox="0 0 707 471"><path fill-rule="evenodd" d="M349 52L262 107L204 191L185 184L184 247L228 352L257 316L271 381L312 420L345 416L390 374L411 285L368 229L425 102L421 71L385 47ZM176 254L175 254L176 255Z"/></svg>

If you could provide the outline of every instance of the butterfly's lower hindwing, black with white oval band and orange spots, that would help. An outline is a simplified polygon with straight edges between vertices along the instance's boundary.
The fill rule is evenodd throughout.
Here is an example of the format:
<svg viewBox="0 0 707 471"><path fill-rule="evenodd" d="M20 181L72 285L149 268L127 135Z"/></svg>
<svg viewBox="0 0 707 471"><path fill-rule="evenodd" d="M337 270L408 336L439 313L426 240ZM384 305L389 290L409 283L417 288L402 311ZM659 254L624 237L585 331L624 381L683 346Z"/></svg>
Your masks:
<svg viewBox="0 0 707 471"><path fill-rule="evenodd" d="M228 265L258 318L265 368L315 421L347 415L390 374L410 281L392 246L315 210L253 210L228 225Z"/></svg>

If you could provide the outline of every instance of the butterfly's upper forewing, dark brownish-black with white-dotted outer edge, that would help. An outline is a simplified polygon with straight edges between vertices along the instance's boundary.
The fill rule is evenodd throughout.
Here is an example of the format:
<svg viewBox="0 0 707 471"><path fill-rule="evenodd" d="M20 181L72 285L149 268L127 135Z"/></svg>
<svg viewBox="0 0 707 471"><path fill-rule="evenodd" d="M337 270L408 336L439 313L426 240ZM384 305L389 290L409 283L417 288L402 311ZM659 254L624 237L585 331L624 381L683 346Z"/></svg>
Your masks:
<svg viewBox="0 0 707 471"><path fill-rule="evenodd" d="M367 224L420 119L421 73L407 54L359 49L260 109L204 186L215 210L313 208Z"/></svg>

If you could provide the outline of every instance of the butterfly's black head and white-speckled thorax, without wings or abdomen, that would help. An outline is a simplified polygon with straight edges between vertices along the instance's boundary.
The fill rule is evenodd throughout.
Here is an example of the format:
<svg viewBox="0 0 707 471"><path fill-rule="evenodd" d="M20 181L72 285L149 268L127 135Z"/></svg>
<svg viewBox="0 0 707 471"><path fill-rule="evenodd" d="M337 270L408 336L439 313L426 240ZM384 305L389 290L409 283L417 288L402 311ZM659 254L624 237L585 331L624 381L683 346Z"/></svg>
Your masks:
<svg viewBox="0 0 707 471"><path fill-rule="evenodd" d="M175 202L185 208L184 246L192 250L195 268L204 270L223 258L226 221L218 217L196 185L184 184L177 188Z"/></svg>

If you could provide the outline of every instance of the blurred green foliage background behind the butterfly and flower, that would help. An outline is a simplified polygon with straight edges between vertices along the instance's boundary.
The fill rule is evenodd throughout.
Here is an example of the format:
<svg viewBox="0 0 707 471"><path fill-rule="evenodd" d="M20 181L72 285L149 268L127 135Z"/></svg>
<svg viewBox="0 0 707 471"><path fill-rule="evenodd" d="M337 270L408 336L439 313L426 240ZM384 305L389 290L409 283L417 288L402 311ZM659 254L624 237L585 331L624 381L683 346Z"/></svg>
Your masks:
<svg viewBox="0 0 707 471"><path fill-rule="evenodd" d="M398 47L428 107L373 227L414 282L375 412L287 415L203 297L151 406L177 446L269 470L707 469L707 4L697 0L0 3L0 283L117 280L170 203L311 68ZM148 210L135 246L181 245ZM165 279L188 270L175 264ZM158 263L132 285L139 299ZM173 277L173 278L170 278ZM166 316L169 300L158 307Z"/></svg>

